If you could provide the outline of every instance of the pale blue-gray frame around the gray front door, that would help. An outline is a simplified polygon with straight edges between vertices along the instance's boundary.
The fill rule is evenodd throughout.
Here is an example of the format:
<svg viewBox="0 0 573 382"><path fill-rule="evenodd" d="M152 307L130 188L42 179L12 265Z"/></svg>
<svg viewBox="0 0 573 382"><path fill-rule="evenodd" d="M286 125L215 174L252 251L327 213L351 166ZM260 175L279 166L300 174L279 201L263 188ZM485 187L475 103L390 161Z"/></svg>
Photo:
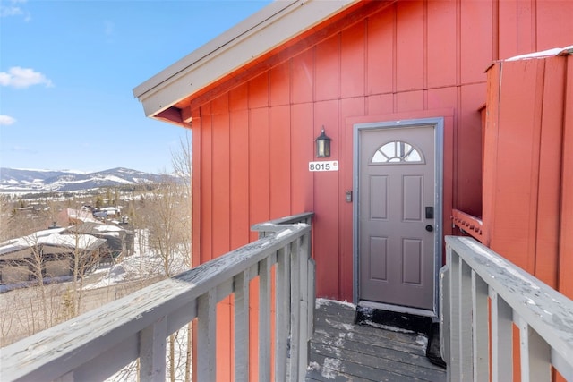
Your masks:
<svg viewBox="0 0 573 382"><path fill-rule="evenodd" d="M353 140L354 140L354 151L353 151L353 193L355 195L355 201L353 205L353 300L357 305L359 301L360 291L359 291L359 264L358 264L358 245L359 245L359 235L358 235L358 212L360 204L360 192L359 192L359 154L360 154L360 140L359 134L363 130L368 129L398 129L401 127L414 127L414 126L427 126L432 125L434 129L434 145L435 145L435 161L434 161L434 176L435 176L435 187L434 187L434 292L433 292L433 310L428 311L425 315L438 316L438 285L439 285L439 271L441 267L442 259L442 234L443 234L443 148L444 148L444 118L422 118L422 119L412 119L412 120L402 120L402 121L383 121L376 123L355 123L353 127ZM391 306L387 305L385 308L391 310ZM404 307L396 307L397 311L401 312L411 312L415 314L423 313L423 311L408 309ZM409 311L412 310L412 311ZM415 310L415 311L414 311Z"/></svg>

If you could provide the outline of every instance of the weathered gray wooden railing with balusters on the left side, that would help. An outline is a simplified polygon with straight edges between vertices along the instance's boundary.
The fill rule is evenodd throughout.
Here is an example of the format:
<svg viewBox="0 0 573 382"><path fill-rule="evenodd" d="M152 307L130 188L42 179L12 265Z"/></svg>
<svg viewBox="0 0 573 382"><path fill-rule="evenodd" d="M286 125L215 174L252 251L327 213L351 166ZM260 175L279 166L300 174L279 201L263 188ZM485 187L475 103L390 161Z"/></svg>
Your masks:
<svg viewBox="0 0 573 382"><path fill-rule="evenodd" d="M0 354L0 379L103 380L140 359L141 381L164 381L166 338L198 318L195 381L216 379L218 301L235 300L235 380L249 376L249 285L259 277L259 378L298 381L312 333L312 214L264 226L265 237L178 276L11 344ZM275 341L271 330L271 269L275 268ZM311 296L313 298L313 296ZM291 333L293 335L291 335ZM274 352L271 352L274 346ZM274 360L270 359L274 354Z"/></svg>

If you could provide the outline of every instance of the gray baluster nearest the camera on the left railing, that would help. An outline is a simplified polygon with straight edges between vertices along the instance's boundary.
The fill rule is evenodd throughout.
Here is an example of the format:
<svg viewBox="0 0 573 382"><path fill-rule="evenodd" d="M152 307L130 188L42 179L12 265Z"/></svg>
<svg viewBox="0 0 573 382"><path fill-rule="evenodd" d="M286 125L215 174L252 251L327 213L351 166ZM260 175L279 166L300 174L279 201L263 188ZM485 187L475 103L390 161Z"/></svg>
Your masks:
<svg viewBox="0 0 573 382"><path fill-rule="evenodd" d="M167 318L162 317L140 332L140 380L165 381Z"/></svg>

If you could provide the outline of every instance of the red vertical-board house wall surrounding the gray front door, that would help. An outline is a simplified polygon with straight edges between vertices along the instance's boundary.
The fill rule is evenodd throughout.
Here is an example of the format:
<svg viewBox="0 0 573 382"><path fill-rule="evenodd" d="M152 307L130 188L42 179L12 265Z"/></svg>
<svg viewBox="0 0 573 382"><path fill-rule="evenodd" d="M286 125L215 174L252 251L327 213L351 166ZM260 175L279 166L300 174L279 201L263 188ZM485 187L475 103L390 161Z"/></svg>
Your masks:
<svg viewBox="0 0 573 382"><path fill-rule="evenodd" d="M445 117L444 222L451 208L481 216L484 70L500 58L570 44L572 13L573 2L554 0L363 2L339 29L316 27L309 43L269 57L269 69L262 64L233 89L192 104L193 264L255 240L255 223L313 211L317 293L351 301L345 191L357 122ZM321 126L338 172L308 171ZM253 288L253 307L257 299ZM218 307L218 359L229 366L232 309L231 301ZM252 360L256 344L252 337ZM232 380L231 370L218 369L218 380ZM256 364L251 370L254 378Z"/></svg>

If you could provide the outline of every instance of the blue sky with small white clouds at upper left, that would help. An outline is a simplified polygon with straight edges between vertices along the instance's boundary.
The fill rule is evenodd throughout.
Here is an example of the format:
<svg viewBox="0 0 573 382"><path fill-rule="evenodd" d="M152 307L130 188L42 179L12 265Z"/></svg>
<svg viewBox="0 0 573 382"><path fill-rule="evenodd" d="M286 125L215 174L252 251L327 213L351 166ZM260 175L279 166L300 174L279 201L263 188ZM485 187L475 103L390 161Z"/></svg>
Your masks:
<svg viewBox="0 0 573 382"><path fill-rule="evenodd" d="M132 89L263 0L0 0L0 166L171 170L185 131Z"/></svg>

